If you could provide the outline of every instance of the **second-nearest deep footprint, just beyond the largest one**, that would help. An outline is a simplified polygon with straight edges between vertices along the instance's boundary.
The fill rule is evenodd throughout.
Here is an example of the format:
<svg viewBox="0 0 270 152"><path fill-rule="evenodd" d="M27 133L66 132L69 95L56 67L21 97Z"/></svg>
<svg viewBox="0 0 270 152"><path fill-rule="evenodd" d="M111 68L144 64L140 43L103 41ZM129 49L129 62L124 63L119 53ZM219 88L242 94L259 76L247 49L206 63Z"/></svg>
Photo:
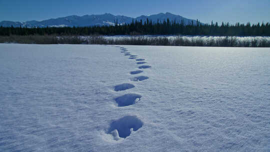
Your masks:
<svg viewBox="0 0 270 152"><path fill-rule="evenodd" d="M135 104L137 101L139 101L141 95L135 94L135 93L127 93L122 96L119 96L115 98L116 103L118 103L118 106L127 106L131 104Z"/></svg>

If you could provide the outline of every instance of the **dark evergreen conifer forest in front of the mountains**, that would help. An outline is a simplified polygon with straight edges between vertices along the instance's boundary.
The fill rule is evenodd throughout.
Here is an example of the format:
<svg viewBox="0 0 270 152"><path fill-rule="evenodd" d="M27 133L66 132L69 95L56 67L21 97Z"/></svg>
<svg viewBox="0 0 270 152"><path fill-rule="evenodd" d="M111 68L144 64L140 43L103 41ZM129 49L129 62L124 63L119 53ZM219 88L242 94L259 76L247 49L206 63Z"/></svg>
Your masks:
<svg viewBox="0 0 270 152"><path fill-rule="evenodd" d="M146 19L132 21L129 24L115 26L88 26L88 27L2 27L0 35L143 35L143 34L184 34L184 35L220 35L220 36L270 36L270 24L267 22L250 24L229 24L218 25L217 22L211 24L196 23L184 24L183 21L163 20L152 22Z"/></svg>

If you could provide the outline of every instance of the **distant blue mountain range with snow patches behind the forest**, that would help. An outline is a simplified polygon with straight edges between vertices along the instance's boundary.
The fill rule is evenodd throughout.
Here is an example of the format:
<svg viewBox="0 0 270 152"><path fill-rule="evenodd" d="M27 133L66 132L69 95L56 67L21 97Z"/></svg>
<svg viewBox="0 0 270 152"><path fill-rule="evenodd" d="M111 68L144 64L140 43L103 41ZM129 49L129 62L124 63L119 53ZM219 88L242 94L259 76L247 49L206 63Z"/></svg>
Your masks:
<svg viewBox="0 0 270 152"><path fill-rule="evenodd" d="M66 17L59 17L59 18L51 18L47 20L30 20L30 21L7 21L3 20L0 21L0 26L4 27L63 27L63 26L93 26L93 25L114 25L115 21L117 20L118 24L124 24L124 23L130 23L132 20L140 21L142 20L142 23L148 18L149 20L152 20L152 22L157 22L166 20L167 18L169 20L175 20L176 22L180 22L183 20L185 24L191 24L193 21L194 24L196 24L196 20L194 19L188 19L185 17L182 17L180 15L175 15L169 12L166 13L158 13L153 15L141 15L135 18L123 16L123 15L113 15L110 13L104 13L104 14L92 14L92 15L83 15L83 16L77 16L77 15L70 15Z"/></svg>

